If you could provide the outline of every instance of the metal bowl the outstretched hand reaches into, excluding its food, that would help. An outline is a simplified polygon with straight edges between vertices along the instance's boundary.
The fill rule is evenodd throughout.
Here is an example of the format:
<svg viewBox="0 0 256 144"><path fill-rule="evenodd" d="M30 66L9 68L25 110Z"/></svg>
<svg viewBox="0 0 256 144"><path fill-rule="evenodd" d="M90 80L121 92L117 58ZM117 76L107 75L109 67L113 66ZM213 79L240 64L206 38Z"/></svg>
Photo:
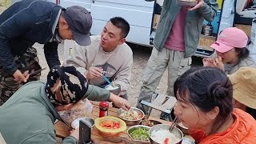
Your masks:
<svg viewBox="0 0 256 144"><path fill-rule="evenodd" d="M142 118L144 118L144 116L145 116L144 112L143 112L142 110L139 110L139 109L136 108L136 107L131 107L130 110L135 110L135 111L137 111L138 113L142 114ZM121 118L124 122L126 122L126 125L127 125L127 126L138 125L139 122L142 121L142 118L139 118L139 119L137 119L137 120L130 120L130 119L122 118L122 117L120 116L120 114L124 113L125 111L126 111L126 110L123 110L123 109L120 108L120 109L118 109L117 114L118 114L118 118Z"/></svg>

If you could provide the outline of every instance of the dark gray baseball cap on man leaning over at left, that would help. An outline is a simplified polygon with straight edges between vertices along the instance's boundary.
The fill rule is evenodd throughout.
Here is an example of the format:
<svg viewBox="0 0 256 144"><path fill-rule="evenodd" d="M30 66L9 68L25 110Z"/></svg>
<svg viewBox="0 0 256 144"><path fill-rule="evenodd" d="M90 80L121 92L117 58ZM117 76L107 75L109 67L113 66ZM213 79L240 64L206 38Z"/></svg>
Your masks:
<svg viewBox="0 0 256 144"><path fill-rule="evenodd" d="M74 41L80 46L90 45L90 12L81 6L70 6L64 11L64 18L70 26Z"/></svg>

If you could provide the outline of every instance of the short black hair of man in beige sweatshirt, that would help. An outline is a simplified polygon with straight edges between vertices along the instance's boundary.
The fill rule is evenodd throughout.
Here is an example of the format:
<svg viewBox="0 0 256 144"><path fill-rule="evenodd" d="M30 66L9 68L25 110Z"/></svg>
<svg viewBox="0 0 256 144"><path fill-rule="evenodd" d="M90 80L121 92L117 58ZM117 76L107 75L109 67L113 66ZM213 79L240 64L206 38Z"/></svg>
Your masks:
<svg viewBox="0 0 256 144"><path fill-rule="evenodd" d="M122 30L122 38L126 38L126 36L128 35L129 31L130 31L130 25L129 23L121 17L114 17L114 18L110 18L110 22L114 25L117 26L119 29Z"/></svg>

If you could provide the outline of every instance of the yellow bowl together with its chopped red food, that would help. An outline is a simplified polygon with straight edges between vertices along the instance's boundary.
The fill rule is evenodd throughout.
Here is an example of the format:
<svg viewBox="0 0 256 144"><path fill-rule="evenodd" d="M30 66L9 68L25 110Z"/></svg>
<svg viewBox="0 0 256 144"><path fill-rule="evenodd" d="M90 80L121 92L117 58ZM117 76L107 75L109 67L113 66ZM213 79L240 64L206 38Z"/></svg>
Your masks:
<svg viewBox="0 0 256 144"><path fill-rule="evenodd" d="M95 127L105 136L118 136L126 130L126 122L120 118L106 116L95 119Z"/></svg>

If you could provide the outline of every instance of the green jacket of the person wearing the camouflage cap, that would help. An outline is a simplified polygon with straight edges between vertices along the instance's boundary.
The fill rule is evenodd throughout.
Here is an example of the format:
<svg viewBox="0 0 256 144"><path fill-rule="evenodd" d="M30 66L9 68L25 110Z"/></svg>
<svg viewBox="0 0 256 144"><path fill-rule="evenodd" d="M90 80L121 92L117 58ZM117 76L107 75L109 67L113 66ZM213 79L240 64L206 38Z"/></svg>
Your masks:
<svg viewBox="0 0 256 144"><path fill-rule="evenodd" d="M54 122L62 119L46 97L45 85L29 82L0 106L0 133L7 144L56 144ZM86 93L86 98L95 101L109 97L108 90L95 86ZM76 144L77 140L69 136L62 143Z"/></svg>

